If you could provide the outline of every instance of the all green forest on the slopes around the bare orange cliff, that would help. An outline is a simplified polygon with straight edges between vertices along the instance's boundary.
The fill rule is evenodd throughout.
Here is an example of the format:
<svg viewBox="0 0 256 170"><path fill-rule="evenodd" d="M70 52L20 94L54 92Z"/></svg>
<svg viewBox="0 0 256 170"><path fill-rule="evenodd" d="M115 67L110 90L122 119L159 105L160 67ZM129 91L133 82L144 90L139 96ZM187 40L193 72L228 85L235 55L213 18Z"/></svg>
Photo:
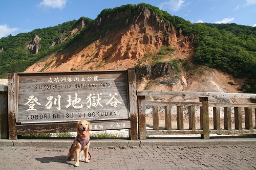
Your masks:
<svg viewBox="0 0 256 170"><path fill-rule="evenodd" d="M241 26L236 23L230 24L213 24L213 23L191 23L178 16L173 16L162 11L157 7L148 4L125 5L113 9L104 9L98 17L113 15L119 11L127 9L136 11L140 6L144 6L154 11L159 17L163 18L168 27L171 22L174 27L182 29L182 33L187 36L196 35L195 55L193 62L195 64L203 64L211 68L217 68L232 74L234 77L247 77L249 82L246 86L247 91L251 92L256 89L256 27ZM91 23L82 32L92 27L94 20L89 18L80 18ZM121 23L122 21L120 21ZM16 36L8 36L0 39L0 49L4 47L4 51L0 52L0 78L6 78L7 71L24 71L34 62L43 57L56 53L59 50L71 45L80 39L83 34L77 34L69 40L49 48L52 42L56 41L61 34L68 33L75 27L77 20L62 23L55 27L45 29L36 29L29 33L21 33ZM116 27L121 29L122 27ZM111 27L110 27L111 28ZM109 29L109 28L108 28ZM32 37L37 34L41 38L41 49L37 55L32 55L27 50L26 45L31 41ZM92 36L95 36L92 34ZM72 39L74 39L72 41ZM92 39L94 39L92 37ZM83 40L84 41L84 40ZM84 42L83 42L84 43ZM88 42L86 42L88 43ZM254 91L256 92L256 90Z"/></svg>

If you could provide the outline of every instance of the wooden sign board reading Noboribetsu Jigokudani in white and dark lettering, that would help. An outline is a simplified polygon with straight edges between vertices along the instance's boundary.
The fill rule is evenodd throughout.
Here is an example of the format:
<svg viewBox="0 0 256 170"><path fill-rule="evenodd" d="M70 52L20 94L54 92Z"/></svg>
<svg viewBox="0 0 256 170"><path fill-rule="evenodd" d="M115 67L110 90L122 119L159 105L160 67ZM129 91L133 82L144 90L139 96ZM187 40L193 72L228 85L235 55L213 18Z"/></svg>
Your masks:
<svg viewBox="0 0 256 170"><path fill-rule="evenodd" d="M126 70L18 74L18 123L129 118Z"/></svg>

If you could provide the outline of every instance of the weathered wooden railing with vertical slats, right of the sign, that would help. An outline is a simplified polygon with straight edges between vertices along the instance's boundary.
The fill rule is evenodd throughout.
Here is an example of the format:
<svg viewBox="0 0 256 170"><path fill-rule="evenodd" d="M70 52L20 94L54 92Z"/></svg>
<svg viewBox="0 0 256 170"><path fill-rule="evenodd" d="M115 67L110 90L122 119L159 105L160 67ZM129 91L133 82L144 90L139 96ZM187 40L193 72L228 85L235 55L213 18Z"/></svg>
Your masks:
<svg viewBox="0 0 256 170"><path fill-rule="evenodd" d="M200 102L158 102L146 101L146 96L182 96L198 97ZM209 103L209 98L244 98L254 103ZM217 93L217 92L183 92L183 91L151 91L137 90L139 139L146 135L166 134L201 134L202 139L209 139L210 134L256 134L253 130L253 112L256 114L256 94L248 93ZM152 106L153 130L146 130L145 108ZM164 107L165 130L159 130L158 107ZM172 129L171 107L177 107L177 130ZM183 107L188 107L189 128L184 129ZM200 107L200 129L196 129L195 107ZM214 127L209 128L209 107L213 109ZM220 107L223 107L224 129L221 128ZM231 125L231 107L234 109L234 128ZM244 108L245 127L242 127L242 108ZM254 111L253 111L254 110ZM256 115L254 116L256 117ZM255 119L255 118L254 118ZM255 120L254 120L255 123Z"/></svg>

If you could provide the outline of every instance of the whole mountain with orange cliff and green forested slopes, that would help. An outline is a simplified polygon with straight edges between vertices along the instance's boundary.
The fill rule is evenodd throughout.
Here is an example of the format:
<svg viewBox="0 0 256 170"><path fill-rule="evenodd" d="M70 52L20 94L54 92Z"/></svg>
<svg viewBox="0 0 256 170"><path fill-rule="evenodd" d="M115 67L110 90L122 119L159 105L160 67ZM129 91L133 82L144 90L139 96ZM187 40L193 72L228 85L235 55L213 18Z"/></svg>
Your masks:
<svg viewBox="0 0 256 170"><path fill-rule="evenodd" d="M138 89L256 93L255 42L253 27L125 5L0 39L0 75L136 68Z"/></svg>

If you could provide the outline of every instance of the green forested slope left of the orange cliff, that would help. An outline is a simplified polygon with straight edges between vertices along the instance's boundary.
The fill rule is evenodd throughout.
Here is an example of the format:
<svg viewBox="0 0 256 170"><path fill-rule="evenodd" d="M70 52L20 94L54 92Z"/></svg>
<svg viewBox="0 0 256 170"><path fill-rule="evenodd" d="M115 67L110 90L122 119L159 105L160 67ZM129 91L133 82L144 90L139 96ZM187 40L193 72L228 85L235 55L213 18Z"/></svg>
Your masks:
<svg viewBox="0 0 256 170"><path fill-rule="evenodd" d="M0 78L7 78L7 71L22 72L36 61L62 50L72 38L54 47L49 48L49 46L58 40L60 35L67 36L81 19L87 24L92 22L92 19L81 17L79 20L68 21L58 26L35 29L29 33L1 38L0 49L3 47L4 51L0 52ZM41 48L36 55L31 54L27 49L27 45L35 34L41 38Z"/></svg>

